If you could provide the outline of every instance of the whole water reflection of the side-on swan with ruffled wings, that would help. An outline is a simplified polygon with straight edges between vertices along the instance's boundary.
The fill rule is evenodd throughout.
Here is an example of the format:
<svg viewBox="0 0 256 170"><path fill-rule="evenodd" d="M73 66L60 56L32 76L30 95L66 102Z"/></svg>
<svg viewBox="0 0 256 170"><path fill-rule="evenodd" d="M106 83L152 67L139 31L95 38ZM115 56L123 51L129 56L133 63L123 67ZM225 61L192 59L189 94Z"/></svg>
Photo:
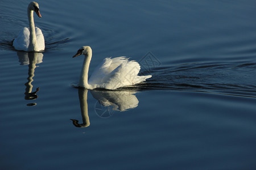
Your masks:
<svg viewBox="0 0 256 170"><path fill-rule="evenodd" d="M138 106L139 100L134 95L135 91L90 91L97 100L95 112L101 118L112 116L114 111L127 111ZM79 101L82 114L82 124L78 120L71 119L73 125L78 128L85 128L90 125L87 104L88 90L79 88Z"/></svg>

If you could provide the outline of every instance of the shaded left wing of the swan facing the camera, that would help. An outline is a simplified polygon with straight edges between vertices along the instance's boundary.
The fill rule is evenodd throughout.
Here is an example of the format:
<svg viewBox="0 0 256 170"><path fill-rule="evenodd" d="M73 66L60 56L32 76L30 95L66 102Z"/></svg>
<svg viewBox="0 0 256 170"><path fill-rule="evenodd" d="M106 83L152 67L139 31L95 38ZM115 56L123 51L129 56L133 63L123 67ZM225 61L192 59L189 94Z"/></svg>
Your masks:
<svg viewBox="0 0 256 170"><path fill-rule="evenodd" d="M24 27L19 35L14 39L13 46L16 50L26 51L28 45L30 44L30 30L27 27Z"/></svg>

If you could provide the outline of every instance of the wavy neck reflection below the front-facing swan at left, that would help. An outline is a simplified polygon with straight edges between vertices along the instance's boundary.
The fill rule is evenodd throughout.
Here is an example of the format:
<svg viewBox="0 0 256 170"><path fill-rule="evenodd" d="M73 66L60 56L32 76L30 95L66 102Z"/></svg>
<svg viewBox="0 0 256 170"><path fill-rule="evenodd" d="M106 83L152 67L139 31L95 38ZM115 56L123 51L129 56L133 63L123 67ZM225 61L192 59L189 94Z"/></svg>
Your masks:
<svg viewBox="0 0 256 170"><path fill-rule="evenodd" d="M25 83L26 86L26 93L25 94L29 94L32 92L32 82L33 82L33 77L35 76L35 68L36 68L36 60L37 60L37 56L35 53L28 53L28 58L29 58L29 65L28 65L28 82Z"/></svg>

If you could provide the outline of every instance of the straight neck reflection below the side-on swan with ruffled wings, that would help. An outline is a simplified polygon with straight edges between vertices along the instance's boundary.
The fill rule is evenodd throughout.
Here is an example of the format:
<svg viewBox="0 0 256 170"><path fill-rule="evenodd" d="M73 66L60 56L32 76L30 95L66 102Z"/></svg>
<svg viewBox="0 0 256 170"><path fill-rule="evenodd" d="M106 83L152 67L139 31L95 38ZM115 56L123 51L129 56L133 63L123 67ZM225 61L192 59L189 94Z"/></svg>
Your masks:
<svg viewBox="0 0 256 170"><path fill-rule="evenodd" d="M82 124L80 126L82 128L88 127L90 125L90 120L88 116L87 94L87 89L79 89L79 101L82 114Z"/></svg>

